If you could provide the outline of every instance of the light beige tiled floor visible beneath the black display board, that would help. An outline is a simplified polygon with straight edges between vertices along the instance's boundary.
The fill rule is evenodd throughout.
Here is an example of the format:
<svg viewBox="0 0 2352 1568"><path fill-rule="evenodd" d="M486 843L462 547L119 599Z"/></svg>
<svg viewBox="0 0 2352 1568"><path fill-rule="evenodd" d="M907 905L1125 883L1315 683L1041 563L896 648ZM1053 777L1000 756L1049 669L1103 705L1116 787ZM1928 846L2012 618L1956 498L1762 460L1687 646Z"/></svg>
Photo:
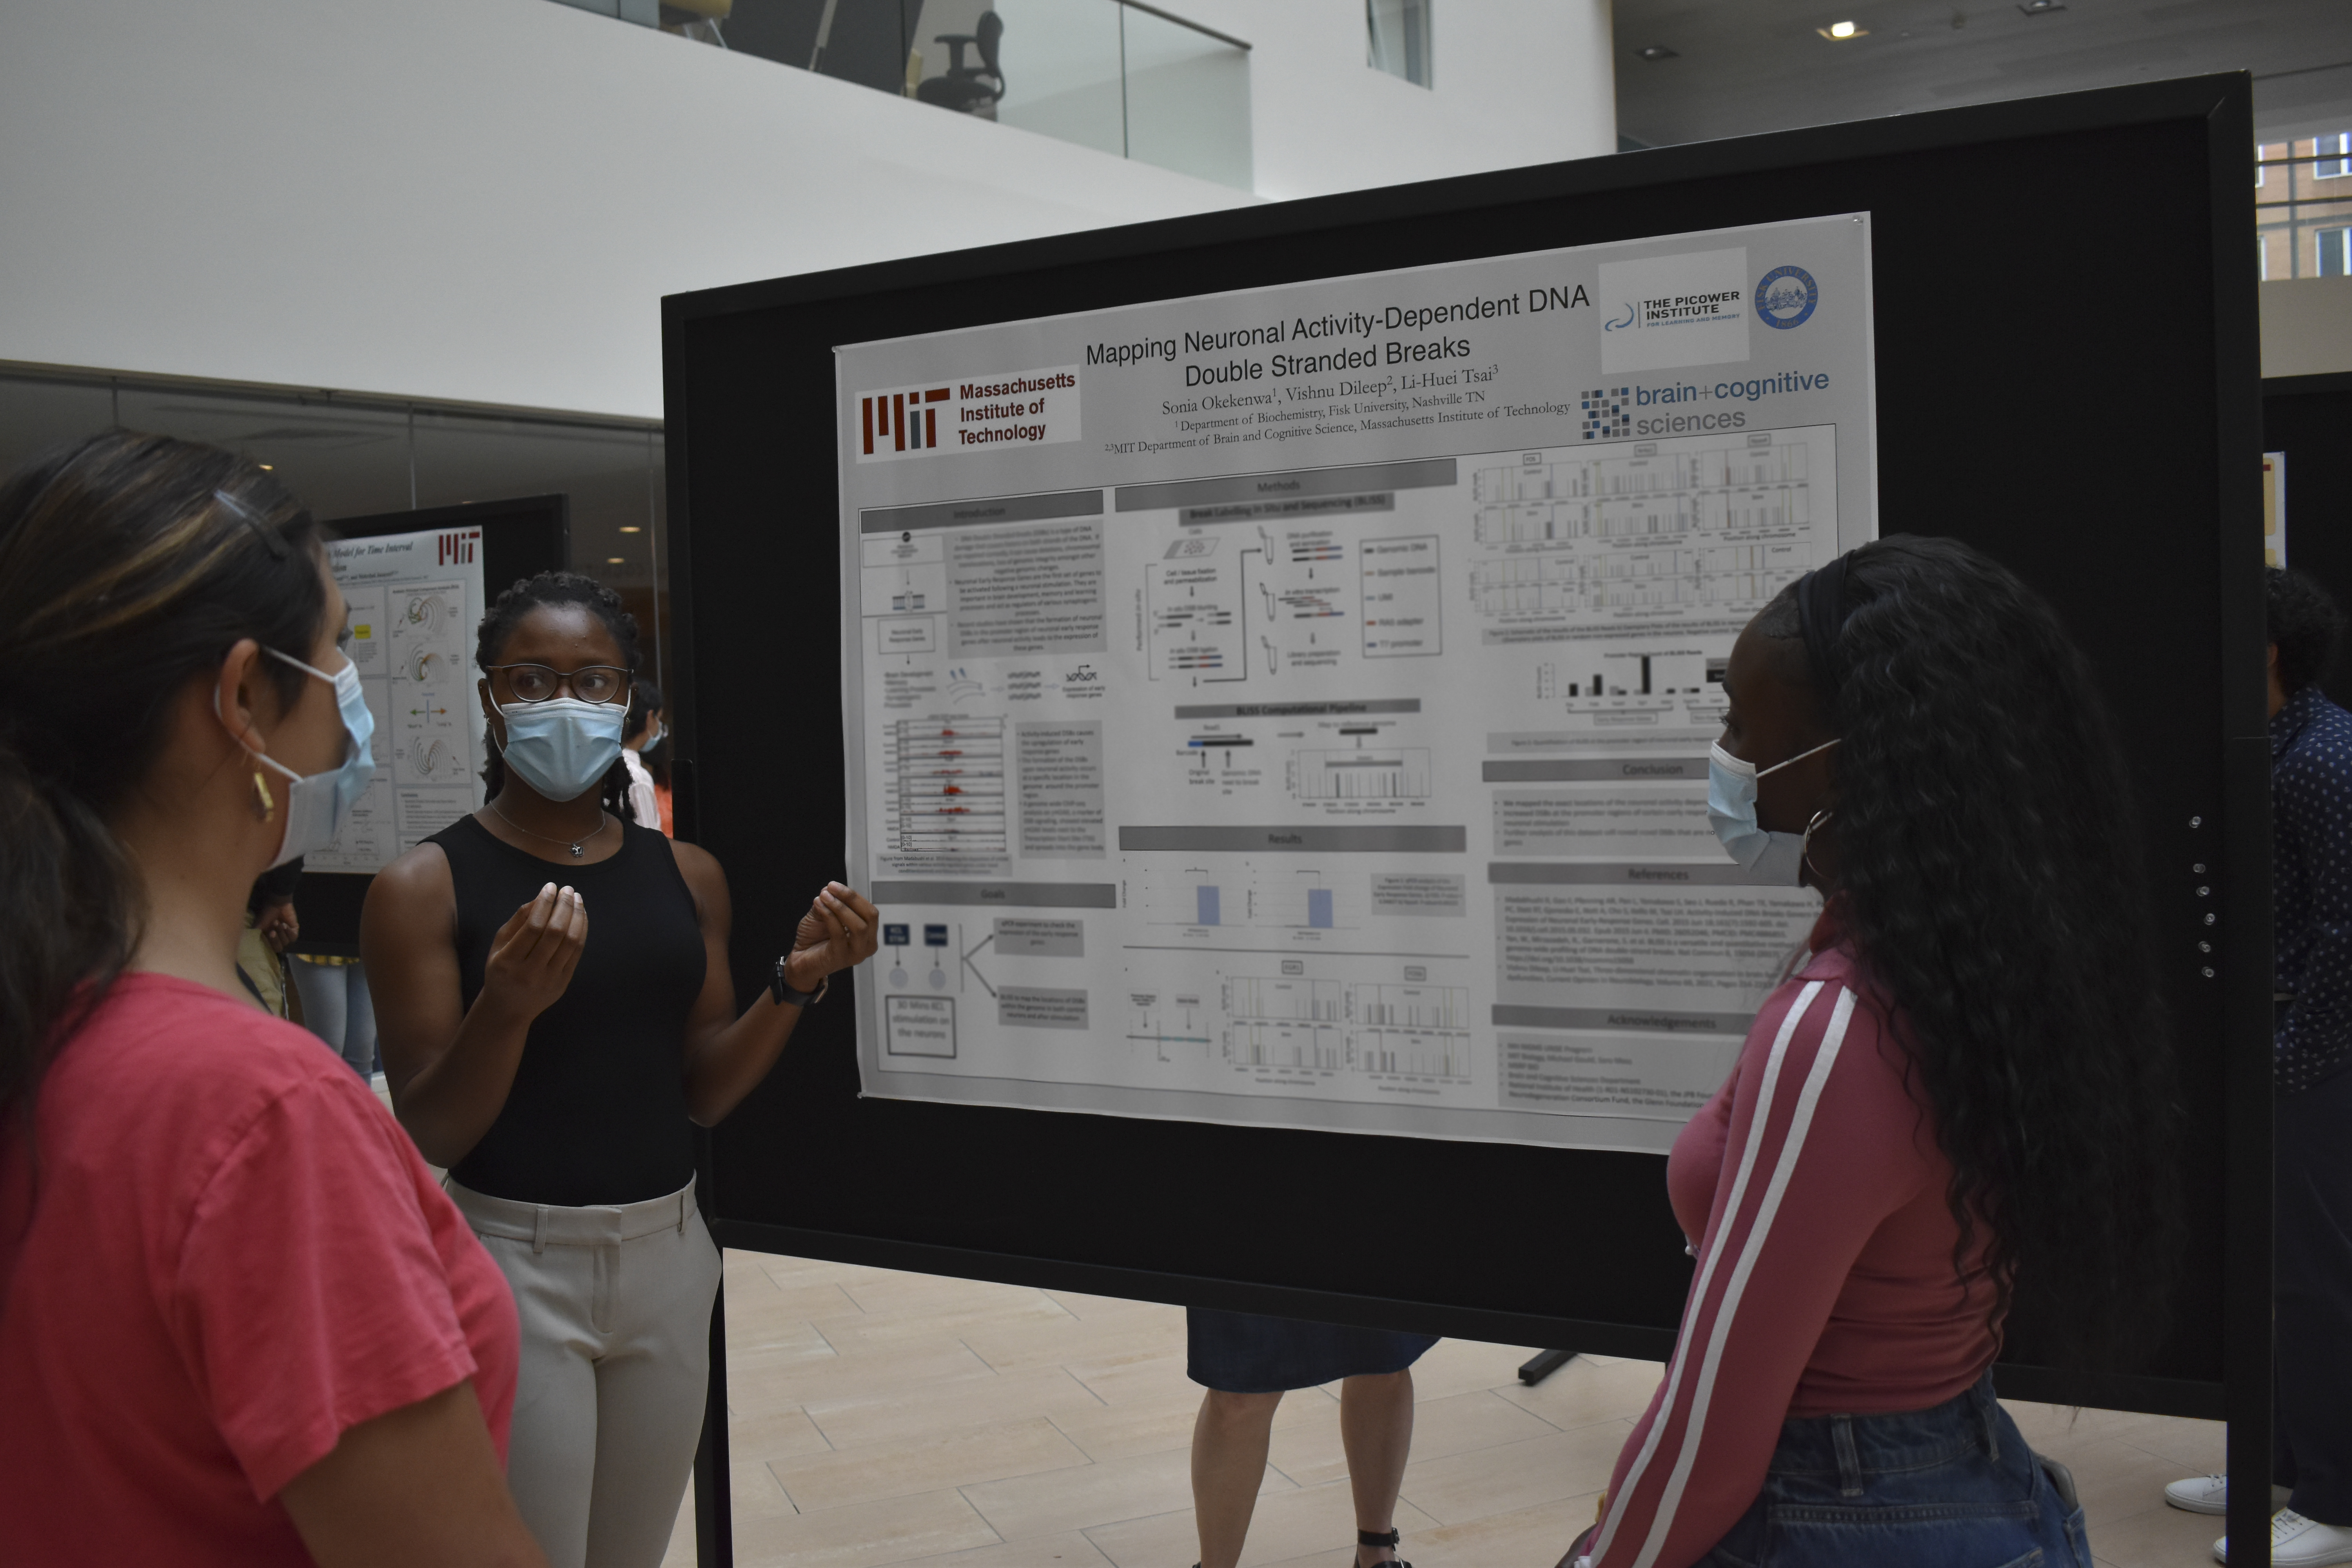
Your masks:
<svg viewBox="0 0 2352 1568"><path fill-rule="evenodd" d="M1200 1389L1183 1312L727 1253L729 1432L743 1568L1185 1568ZM1592 1519L1649 1361L1581 1356L1534 1389L1515 1345L1444 1340L1397 1528L1421 1568L1550 1568ZM1348 1568L1336 1389L1282 1401L1244 1568ZM2211 1561L2218 1519L2161 1488L2220 1469L2216 1422L2011 1403L2074 1469L2112 1568ZM691 1502L668 1566L691 1568Z"/></svg>

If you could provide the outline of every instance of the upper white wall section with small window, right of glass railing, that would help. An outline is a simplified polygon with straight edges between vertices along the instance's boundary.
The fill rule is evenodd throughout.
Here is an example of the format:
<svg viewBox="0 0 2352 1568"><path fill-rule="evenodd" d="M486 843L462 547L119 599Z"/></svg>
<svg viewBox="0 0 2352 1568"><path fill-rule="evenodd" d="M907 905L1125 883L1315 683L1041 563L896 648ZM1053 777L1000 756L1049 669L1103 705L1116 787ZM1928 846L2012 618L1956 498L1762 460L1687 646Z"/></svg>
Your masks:
<svg viewBox="0 0 2352 1568"><path fill-rule="evenodd" d="M1609 0L1432 7L1432 87L1414 87L1364 63L1364 0L1162 0L1251 45L1258 195L1616 153Z"/></svg>

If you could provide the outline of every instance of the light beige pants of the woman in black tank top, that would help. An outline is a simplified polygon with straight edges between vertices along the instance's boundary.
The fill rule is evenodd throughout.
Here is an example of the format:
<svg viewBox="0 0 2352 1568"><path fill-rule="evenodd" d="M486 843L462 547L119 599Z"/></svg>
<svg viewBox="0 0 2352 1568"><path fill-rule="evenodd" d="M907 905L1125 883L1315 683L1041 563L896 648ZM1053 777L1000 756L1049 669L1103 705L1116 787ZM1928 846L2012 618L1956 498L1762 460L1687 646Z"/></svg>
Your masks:
<svg viewBox="0 0 2352 1568"><path fill-rule="evenodd" d="M550 1568L659 1568L694 1472L720 1248L694 1182L557 1208L449 1182L506 1272L522 1371L506 1483Z"/></svg>

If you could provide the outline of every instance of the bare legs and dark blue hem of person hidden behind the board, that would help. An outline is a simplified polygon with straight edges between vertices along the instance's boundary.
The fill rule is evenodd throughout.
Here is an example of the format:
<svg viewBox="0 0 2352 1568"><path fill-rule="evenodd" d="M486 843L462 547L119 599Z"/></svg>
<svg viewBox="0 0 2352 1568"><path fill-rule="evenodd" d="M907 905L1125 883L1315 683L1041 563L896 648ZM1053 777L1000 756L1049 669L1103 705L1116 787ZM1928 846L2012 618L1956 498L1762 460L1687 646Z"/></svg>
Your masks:
<svg viewBox="0 0 2352 1568"><path fill-rule="evenodd" d="M1414 1361L1435 1335L1185 1309L1185 1375L1209 1389L1192 1420L1195 1568L1235 1568L1265 1479L1275 1406L1338 1382L1338 1436L1355 1493L1355 1561L1397 1561L1397 1488L1414 1446Z"/></svg>

